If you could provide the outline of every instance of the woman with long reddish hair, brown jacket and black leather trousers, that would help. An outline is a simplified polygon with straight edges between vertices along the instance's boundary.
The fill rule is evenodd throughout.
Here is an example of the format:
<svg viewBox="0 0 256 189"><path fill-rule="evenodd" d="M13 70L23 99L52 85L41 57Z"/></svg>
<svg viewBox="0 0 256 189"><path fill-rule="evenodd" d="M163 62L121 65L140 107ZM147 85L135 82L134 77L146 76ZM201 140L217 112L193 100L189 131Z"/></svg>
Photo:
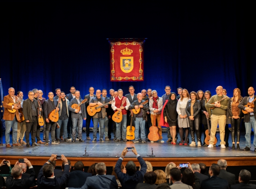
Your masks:
<svg viewBox="0 0 256 189"><path fill-rule="evenodd" d="M240 124L243 118L243 112L238 108L243 97L241 96L240 89L233 90L233 97L229 99L227 105L227 111L229 112L230 123L232 127L232 149L235 149L235 137L236 137L236 149L240 149Z"/></svg>

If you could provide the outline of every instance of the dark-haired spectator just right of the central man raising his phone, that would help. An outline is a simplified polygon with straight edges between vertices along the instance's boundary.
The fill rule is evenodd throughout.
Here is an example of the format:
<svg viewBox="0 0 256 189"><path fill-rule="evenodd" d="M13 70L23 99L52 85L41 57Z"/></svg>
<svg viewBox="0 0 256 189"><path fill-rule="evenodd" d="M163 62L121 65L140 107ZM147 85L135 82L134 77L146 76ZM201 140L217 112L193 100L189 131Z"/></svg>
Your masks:
<svg viewBox="0 0 256 189"><path fill-rule="evenodd" d="M144 183L138 183L135 189L155 189L157 188L157 185L155 185L156 181L157 174L155 172L146 172L144 175Z"/></svg>

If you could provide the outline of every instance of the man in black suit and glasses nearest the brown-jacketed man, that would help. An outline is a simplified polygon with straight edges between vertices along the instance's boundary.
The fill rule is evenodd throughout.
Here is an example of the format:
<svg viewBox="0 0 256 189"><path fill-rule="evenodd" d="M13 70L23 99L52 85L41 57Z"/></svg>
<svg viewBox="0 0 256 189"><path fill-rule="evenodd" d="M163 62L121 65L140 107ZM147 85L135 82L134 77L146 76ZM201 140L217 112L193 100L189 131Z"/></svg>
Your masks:
<svg viewBox="0 0 256 189"><path fill-rule="evenodd" d="M37 109L38 109L38 103L37 100L35 100L34 96L35 93L30 90L28 93L29 98L23 101L23 116L26 121L26 146L31 147L29 144L29 133L31 133L31 140L32 140L32 146L40 146L40 144L36 143L36 129L37 129ZM40 108L42 111L42 109Z"/></svg>

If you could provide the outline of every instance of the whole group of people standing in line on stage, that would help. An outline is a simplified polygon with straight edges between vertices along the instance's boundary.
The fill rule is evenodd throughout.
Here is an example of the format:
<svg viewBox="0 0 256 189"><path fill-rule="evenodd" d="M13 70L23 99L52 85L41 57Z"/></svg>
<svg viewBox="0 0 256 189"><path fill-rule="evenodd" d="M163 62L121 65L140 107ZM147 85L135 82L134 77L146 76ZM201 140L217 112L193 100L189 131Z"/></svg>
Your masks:
<svg viewBox="0 0 256 189"><path fill-rule="evenodd" d="M167 127L168 140L172 144L177 142L177 131L180 134L180 145L189 143L188 135L191 134L190 146L207 145L208 148L214 147L216 129L219 125L220 147L226 148L228 145L228 124L232 126L232 148L240 149L240 123L244 118L246 129L246 147L244 151L250 150L251 129L255 131L255 111L254 99L256 99L254 88L249 87L248 97L242 97L238 88L233 90L233 97L226 96L226 90L222 86L216 88L216 95L211 96L211 92L198 90L197 92L188 92L187 89L179 87L178 96L171 92L171 87L165 87L165 94L158 97L156 90L141 90L141 93L135 94L133 86L129 86L129 94L123 96L122 89L115 91L95 90L89 87L89 94L81 99L79 90L70 87L70 93L65 94L60 89L48 93L49 99L42 97L42 90L33 89L28 92L28 99L20 100L23 92L15 94L14 88L9 88L9 95L4 96L3 106L5 108L3 119L6 120L6 147L10 145L10 130L13 129L13 146L26 144L30 147L29 133L31 132L32 145L49 144L49 131L51 130L52 144L59 144L60 140L64 142L84 142L82 139L83 120L86 120L86 140L91 140L89 136L89 127L93 121L93 139L97 141L97 128L99 124L99 141L111 139L111 130L114 133L114 141L127 141L127 126L135 126L133 142L146 142L150 127L154 125L154 117L158 128L158 141L164 142L162 137L162 126ZM148 100L147 103L145 101ZM12 105L10 105L10 103ZM73 104L78 104L79 109L73 108ZM89 115L86 109L95 106L101 106L101 110L93 115ZM17 110L13 113L9 110ZM134 121L131 121L132 110L140 112L133 115ZM57 122L49 119L49 114L57 111L59 119ZM122 114L121 121L112 121L113 114L119 111ZM44 120L43 140L40 139L40 126L38 123L39 114L42 114ZM24 116L24 121L20 121ZM54 117L54 116L53 116ZM19 121L19 123L18 123ZM131 122L131 123L130 123ZM57 127L56 127L57 124ZM204 141L201 141L202 128L210 131L210 139L206 141L207 135L204 133ZM26 142L23 141L26 135ZM64 138L63 138L64 135ZM195 136L196 139L195 140ZM236 145L235 145L236 136ZM256 136L256 133L255 133ZM36 142L37 139L37 142ZM226 140L226 141L225 141ZM196 143L197 141L197 143ZM151 140L151 142L154 142ZM256 137L253 145L256 151Z"/></svg>

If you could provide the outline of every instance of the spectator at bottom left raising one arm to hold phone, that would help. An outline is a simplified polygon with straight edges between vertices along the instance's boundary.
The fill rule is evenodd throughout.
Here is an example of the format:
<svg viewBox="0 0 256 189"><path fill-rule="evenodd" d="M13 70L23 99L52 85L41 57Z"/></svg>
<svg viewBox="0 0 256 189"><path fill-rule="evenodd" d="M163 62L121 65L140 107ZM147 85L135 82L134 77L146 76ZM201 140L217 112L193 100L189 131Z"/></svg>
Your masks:
<svg viewBox="0 0 256 189"><path fill-rule="evenodd" d="M29 178L22 179L22 167L15 166L12 169L12 176L6 178L7 189L29 189L36 180L36 173L30 161L24 158L25 164L29 167Z"/></svg>

